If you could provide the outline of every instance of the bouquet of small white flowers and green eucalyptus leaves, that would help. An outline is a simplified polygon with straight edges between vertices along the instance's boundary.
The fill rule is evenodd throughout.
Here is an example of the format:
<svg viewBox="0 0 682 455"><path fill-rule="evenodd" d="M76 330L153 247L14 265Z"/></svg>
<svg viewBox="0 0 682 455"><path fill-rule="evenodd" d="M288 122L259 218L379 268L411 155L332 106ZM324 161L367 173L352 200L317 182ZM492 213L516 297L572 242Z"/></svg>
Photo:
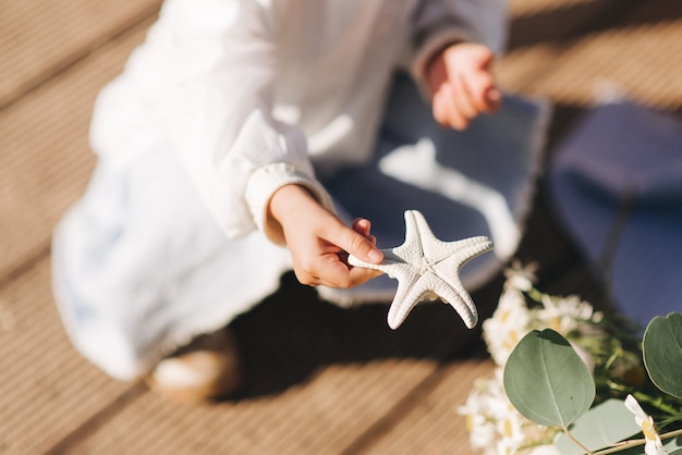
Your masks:
<svg viewBox="0 0 682 455"><path fill-rule="evenodd" d="M622 317L535 288L534 267L506 271L483 323L496 364L458 410L488 454L682 454L682 315L643 339Z"/></svg>

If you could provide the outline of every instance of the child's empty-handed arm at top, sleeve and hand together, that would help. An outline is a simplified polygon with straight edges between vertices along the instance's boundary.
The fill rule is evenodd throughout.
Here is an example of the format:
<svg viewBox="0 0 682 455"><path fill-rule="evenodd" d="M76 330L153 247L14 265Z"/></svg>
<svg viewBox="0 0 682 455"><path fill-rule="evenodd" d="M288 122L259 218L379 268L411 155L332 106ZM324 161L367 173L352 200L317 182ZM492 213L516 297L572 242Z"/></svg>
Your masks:
<svg viewBox="0 0 682 455"><path fill-rule="evenodd" d="M423 0L412 19L403 64L410 70L434 116L462 130L495 110L499 93L490 65L504 49L507 0Z"/></svg>

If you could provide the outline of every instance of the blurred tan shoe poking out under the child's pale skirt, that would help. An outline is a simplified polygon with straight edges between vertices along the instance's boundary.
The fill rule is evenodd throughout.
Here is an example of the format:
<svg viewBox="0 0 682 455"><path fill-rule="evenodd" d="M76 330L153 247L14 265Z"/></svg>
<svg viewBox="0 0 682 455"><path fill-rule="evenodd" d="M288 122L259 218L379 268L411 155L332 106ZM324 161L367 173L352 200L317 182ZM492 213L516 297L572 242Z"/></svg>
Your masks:
<svg viewBox="0 0 682 455"><path fill-rule="evenodd" d="M228 397L241 383L239 349L228 329L194 339L161 360L147 378L159 395L188 404Z"/></svg>

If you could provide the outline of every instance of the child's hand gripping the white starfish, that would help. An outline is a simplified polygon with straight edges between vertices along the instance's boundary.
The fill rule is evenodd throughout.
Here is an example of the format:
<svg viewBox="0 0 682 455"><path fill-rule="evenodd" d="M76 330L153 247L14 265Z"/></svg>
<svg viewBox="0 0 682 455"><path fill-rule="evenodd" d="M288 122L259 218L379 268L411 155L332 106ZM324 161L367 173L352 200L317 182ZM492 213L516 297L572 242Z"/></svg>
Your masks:
<svg viewBox="0 0 682 455"><path fill-rule="evenodd" d="M348 288L381 274L348 263L349 254L367 262L383 260L375 237L369 234L368 220L355 220L353 229L348 228L305 188L296 185L278 189L270 200L269 211L281 228L301 283Z"/></svg>

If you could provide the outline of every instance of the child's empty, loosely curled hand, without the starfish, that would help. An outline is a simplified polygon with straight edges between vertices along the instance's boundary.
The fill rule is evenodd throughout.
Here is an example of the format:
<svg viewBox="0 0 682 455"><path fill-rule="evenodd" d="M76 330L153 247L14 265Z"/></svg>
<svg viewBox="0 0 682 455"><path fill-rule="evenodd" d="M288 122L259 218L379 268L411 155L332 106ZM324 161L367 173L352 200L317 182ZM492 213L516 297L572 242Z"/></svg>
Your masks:
<svg viewBox="0 0 682 455"><path fill-rule="evenodd" d="M501 95L490 72L494 54L485 46L459 42L439 52L427 67L434 118L464 130L478 114L497 110Z"/></svg>

